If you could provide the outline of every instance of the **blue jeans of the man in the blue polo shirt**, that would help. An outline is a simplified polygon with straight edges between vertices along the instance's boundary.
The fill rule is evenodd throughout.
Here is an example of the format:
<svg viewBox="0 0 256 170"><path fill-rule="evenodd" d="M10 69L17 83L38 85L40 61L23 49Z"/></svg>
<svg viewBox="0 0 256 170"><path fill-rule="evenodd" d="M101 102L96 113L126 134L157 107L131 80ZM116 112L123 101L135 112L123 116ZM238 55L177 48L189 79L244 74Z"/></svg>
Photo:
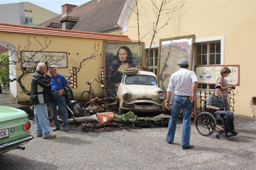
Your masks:
<svg viewBox="0 0 256 170"><path fill-rule="evenodd" d="M63 127L68 127L68 112L66 108L66 100L65 96L59 96L59 93L52 93L52 96L54 98L54 102L50 103L51 106L51 112L52 112L52 120L54 121L55 127L60 127L60 123L58 121L57 116L57 105L59 107L61 118L63 121Z"/></svg>

